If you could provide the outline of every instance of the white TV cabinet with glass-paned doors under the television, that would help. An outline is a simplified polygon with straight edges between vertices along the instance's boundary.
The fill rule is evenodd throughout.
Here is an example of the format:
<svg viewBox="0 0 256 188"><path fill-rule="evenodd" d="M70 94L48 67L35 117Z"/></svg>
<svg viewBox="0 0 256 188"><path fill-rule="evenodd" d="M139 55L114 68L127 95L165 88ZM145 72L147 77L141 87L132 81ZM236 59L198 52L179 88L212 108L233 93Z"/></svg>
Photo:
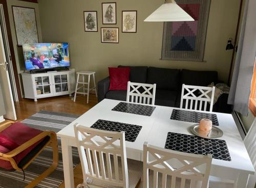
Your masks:
<svg viewBox="0 0 256 188"><path fill-rule="evenodd" d="M22 73L25 98L37 99L70 95L75 92L75 69L54 73Z"/></svg>

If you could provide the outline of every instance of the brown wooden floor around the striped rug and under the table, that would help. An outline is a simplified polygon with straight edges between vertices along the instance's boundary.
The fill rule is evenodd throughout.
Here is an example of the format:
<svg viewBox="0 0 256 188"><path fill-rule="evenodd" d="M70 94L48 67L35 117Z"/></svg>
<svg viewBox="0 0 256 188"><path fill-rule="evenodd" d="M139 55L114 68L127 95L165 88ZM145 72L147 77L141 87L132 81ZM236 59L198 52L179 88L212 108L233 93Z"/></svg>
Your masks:
<svg viewBox="0 0 256 188"><path fill-rule="evenodd" d="M76 102L73 102L69 96L61 96L38 99L37 102L34 102L34 100L30 99L23 99L15 103L15 109L18 121L22 121L34 113L39 112L40 110L83 114L97 103L98 99L95 95L90 95L89 104L86 103L86 97L81 95L77 96ZM74 180L75 187L79 183L83 182L82 169L80 164L74 169ZM59 187L65 187L64 183L62 183Z"/></svg>

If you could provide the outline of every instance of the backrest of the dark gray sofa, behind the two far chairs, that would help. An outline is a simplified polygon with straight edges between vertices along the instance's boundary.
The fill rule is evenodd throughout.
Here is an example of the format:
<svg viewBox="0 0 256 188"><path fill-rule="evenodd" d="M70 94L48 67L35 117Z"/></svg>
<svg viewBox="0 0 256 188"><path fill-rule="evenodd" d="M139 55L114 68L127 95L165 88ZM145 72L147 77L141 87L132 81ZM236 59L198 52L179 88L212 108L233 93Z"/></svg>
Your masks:
<svg viewBox="0 0 256 188"><path fill-rule="evenodd" d="M157 84L157 89L181 90L182 84L207 86L218 82L217 71L158 68L147 66L130 67L130 81L136 83Z"/></svg>

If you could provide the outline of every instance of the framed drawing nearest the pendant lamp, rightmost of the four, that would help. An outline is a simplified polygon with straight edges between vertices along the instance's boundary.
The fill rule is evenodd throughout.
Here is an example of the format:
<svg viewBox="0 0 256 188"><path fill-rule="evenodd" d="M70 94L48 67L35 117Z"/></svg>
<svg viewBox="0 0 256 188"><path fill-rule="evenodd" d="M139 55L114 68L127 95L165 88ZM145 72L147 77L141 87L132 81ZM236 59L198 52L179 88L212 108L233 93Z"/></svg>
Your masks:
<svg viewBox="0 0 256 188"><path fill-rule="evenodd" d="M122 11L122 32L137 32L137 10Z"/></svg>

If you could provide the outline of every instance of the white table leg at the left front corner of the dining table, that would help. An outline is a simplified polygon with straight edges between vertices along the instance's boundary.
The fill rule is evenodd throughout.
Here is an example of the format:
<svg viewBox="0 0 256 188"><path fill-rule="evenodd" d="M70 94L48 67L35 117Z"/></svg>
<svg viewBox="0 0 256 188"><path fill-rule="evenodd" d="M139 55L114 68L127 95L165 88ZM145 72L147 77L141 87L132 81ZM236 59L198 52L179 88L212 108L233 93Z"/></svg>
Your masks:
<svg viewBox="0 0 256 188"><path fill-rule="evenodd" d="M68 145L66 138L61 138L61 150L65 187L74 188L74 171L72 159L72 147Z"/></svg>

